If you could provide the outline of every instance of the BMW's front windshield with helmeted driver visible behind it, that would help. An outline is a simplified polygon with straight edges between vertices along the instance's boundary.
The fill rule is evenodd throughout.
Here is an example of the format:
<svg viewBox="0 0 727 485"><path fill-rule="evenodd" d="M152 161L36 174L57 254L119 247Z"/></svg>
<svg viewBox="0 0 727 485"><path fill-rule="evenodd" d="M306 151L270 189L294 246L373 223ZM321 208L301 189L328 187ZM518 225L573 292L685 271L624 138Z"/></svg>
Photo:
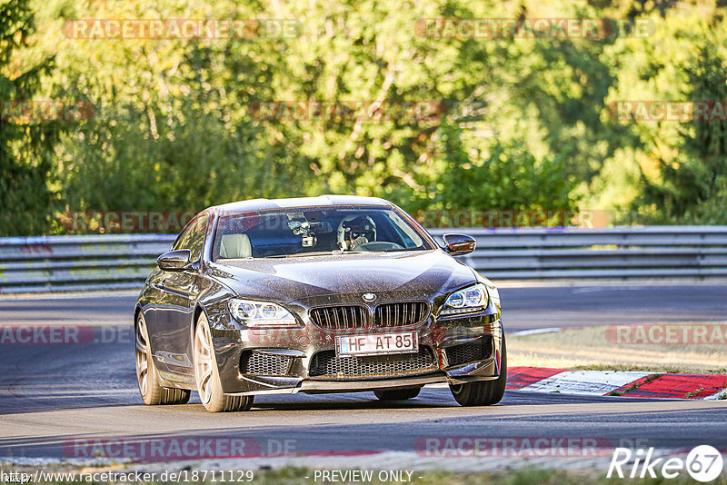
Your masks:
<svg viewBox="0 0 727 485"><path fill-rule="evenodd" d="M223 215L213 259L434 249L389 208L298 208Z"/></svg>

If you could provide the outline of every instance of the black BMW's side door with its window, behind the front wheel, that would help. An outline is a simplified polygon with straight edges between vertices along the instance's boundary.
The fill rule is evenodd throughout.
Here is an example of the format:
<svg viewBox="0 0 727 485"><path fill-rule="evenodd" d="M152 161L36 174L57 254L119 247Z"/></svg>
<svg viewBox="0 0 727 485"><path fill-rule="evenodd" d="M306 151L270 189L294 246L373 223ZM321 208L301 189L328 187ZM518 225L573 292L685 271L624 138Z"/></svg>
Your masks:
<svg viewBox="0 0 727 485"><path fill-rule="evenodd" d="M188 249L192 267L181 272L164 272L159 290L163 294L161 318L156 329L154 360L162 377L168 381L187 381L194 375L190 344L190 323L194 302L199 293L199 262L209 217L201 214L184 228L173 250Z"/></svg>

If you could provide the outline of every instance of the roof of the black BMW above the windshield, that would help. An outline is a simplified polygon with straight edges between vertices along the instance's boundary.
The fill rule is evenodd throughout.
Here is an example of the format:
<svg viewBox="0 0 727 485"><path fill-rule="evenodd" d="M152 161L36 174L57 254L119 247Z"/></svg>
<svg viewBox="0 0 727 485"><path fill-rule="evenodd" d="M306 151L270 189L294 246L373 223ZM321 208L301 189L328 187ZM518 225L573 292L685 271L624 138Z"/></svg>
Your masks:
<svg viewBox="0 0 727 485"><path fill-rule="evenodd" d="M334 205L370 205L393 207L393 203L378 197L358 195L321 195L319 197L295 197L291 199L251 199L234 203L224 203L210 207L209 211L218 213L244 213L269 209L293 209L298 207L324 207Z"/></svg>

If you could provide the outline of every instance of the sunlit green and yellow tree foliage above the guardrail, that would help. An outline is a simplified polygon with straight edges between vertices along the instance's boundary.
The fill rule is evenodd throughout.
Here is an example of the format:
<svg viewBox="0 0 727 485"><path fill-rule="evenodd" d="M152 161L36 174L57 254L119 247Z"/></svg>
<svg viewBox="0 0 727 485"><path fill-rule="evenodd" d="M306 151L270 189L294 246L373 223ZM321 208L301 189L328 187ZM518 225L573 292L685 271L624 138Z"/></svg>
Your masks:
<svg viewBox="0 0 727 485"><path fill-rule="evenodd" d="M608 111L617 100L725 99L725 7L714 2L35 0L31 11L29 1L5 2L12 15L0 15L2 99L82 100L95 114L0 125L5 234L57 231L49 214L67 210L194 211L320 193L383 196L411 211L580 206L727 223L724 123L622 123ZM32 35L34 16L43 28ZM417 30L439 17L605 18L617 28L603 38ZM68 37L66 21L89 18L287 19L294 29ZM631 32L637 21L652 31ZM257 118L254 106L271 101L444 110L427 120Z"/></svg>

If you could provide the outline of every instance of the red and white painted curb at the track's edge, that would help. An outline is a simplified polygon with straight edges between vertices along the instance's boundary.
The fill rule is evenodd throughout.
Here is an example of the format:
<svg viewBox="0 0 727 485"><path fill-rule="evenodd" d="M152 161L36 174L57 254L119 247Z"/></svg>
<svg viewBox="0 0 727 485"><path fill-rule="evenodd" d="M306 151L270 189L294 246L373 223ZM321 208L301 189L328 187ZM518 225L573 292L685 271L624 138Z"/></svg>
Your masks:
<svg viewBox="0 0 727 485"><path fill-rule="evenodd" d="M567 371L544 367L509 367L507 373L507 389L511 391L630 398L727 399L727 375L724 374Z"/></svg>

